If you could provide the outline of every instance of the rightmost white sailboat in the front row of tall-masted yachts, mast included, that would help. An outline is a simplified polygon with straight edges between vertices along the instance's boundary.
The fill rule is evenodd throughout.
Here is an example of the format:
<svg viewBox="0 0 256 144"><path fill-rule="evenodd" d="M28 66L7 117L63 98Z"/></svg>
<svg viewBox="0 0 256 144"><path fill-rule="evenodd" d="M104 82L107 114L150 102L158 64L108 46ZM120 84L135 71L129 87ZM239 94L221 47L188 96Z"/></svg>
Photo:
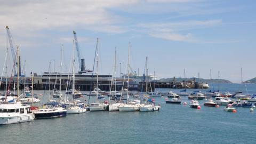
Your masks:
<svg viewBox="0 0 256 144"><path fill-rule="evenodd" d="M148 93L148 57L146 57L146 95ZM145 76L145 75L144 75ZM151 87L151 86L150 86ZM152 93L152 90L151 90ZM156 106L155 102L153 100L148 100L148 97L146 97L146 102L140 105L140 111L158 111L161 107Z"/></svg>

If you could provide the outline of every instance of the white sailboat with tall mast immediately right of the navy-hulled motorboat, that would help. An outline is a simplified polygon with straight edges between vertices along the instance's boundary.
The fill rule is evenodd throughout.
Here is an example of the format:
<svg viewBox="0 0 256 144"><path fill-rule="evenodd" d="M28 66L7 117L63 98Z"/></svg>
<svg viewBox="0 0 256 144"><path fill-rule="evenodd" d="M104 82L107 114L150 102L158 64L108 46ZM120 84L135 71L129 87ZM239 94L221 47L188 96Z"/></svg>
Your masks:
<svg viewBox="0 0 256 144"><path fill-rule="evenodd" d="M67 108L67 114L79 114L79 113L85 113L86 108L82 105L78 106L75 105L75 43L73 41L73 63L72 63L72 77L73 77L73 83L72 83L72 98L73 98L73 105Z"/></svg>

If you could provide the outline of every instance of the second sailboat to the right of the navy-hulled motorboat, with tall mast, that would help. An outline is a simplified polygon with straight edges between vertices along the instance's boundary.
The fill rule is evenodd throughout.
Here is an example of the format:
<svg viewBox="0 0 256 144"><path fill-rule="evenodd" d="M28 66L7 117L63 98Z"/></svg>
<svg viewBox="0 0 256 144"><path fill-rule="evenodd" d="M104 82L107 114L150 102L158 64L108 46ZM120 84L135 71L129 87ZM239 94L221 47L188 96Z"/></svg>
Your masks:
<svg viewBox="0 0 256 144"><path fill-rule="evenodd" d="M98 92L98 73L99 73L99 39L97 38L97 46L96 46L96 57L97 57L97 72L96 72L96 77L97 77L97 85L96 85L96 101L95 103L91 103L89 106L90 111L101 111L101 110L106 110L108 105L103 102L99 102L99 92Z"/></svg>

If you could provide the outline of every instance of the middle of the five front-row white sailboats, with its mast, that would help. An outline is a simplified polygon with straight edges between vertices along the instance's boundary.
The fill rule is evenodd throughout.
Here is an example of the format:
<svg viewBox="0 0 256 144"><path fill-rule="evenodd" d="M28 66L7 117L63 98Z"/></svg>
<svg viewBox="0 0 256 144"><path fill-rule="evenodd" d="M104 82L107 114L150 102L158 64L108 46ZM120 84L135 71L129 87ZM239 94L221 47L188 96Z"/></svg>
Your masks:
<svg viewBox="0 0 256 144"><path fill-rule="evenodd" d="M122 94L116 91L116 49L115 49L115 62L114 63L115 64L114 64L113 73L114 73L115 86L114 86L114 91L111 91L112 90L112 85L113 85L113 77L112 77L111 85L110 85L110 92L108 94L109 102L112 99L112 100L114 100L114 103L109 103L108 111L118 111L119 106L123 105L123 103L121 103L121 102L116 102L116 100L119 100L122 97Z"/></svg>

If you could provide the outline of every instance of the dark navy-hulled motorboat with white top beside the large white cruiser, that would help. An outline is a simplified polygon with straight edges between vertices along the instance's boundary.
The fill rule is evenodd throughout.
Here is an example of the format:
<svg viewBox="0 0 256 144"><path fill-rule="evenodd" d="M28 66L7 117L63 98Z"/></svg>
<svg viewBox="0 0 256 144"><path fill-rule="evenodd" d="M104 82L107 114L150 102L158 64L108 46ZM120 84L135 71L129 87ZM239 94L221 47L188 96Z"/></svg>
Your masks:
<svg viewBox="0 0 256 144"><path fill-rule="evenodd" d="M57 102L49 102L43 108L33 111L35 118L55 118L67 115L67 110L59 106Z"/></svg>

